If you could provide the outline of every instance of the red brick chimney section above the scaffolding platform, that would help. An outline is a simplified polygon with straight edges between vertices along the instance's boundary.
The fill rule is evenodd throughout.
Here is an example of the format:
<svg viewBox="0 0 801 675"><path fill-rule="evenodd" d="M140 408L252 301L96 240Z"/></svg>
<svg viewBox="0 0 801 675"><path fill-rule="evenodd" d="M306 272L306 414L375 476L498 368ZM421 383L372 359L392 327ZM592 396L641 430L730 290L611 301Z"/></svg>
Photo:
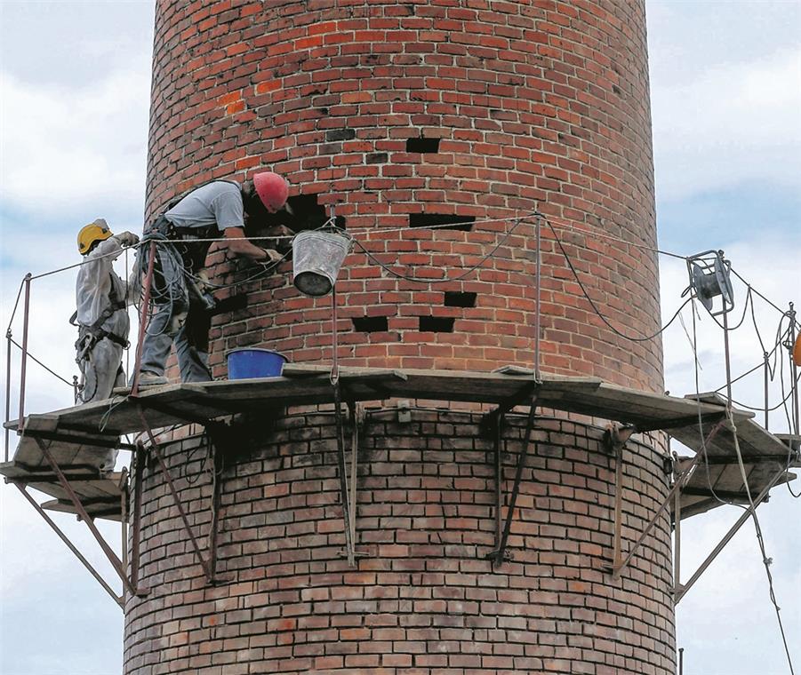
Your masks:
<svg viewBox="0 0 801 675"><path fill-rule="evenodd" d="M489 252L536 205L582 282L629 335L658 327L651 253L653 167L637 2L554 0L184 2L156 10L148 214L212 177L283 173L292 195L336 203L348 229L404 274L447 278ZM421 135L437 154L407 152ZM410 214L477 219L470 232L411 228ZM340 351L355 366L493 369L533 361L533 226L477 273L437 286L398 282L356 251L340 275ZM246 279L211 258L219 282ZM543 232L543 369L661 389L659 342L630 343L591 311ZM301 297L290 265L215 320L212 364L261 345L292 361L332 356L330 298ZM444 291L477 294L446 306ZM352 321L386 317L386 330ZM421 317L453 319L452 332ZM174 375L174 370L173 370Z"/></svg>

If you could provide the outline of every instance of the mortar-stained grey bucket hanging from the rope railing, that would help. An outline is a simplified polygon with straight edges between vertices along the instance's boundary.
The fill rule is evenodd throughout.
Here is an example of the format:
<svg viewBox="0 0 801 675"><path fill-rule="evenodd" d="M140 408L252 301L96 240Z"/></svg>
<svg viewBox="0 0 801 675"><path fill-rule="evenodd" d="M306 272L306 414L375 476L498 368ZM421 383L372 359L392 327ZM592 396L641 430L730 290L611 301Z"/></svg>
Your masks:
<svg viewBox="0 0 801 675"><path fill-rule="evenodd" d="M337 281L340 266L348 255L352 239L332 227L307 230L292 240L292 283L304 295L328 295Z"/></svg>

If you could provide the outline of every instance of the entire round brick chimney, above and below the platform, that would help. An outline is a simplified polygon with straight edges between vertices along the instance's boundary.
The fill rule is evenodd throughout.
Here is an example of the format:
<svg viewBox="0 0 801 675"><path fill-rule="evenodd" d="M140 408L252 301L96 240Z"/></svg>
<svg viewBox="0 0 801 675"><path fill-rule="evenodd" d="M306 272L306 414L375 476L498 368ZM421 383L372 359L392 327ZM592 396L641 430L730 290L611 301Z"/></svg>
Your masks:
<svg viewBox="0 0 801 675"><path fill-rule="evenodd" d="M642 0L159 0L147 216L207 179L262 168L291 183L290 225L319 224L335 205L359 244L337 284L348 366L531 366L535 221L509 218L537 207L614 329L653 333L657 262L625 243L656 241L645 49ZM661 391L659 340L611 330L544 222L541 240L543 371ZM331 362L332 300L301 296L291 263L254 278L258 268L212 247L208 265L230 303L212 320L215 377L238 346ZM493 570L492 444L477 413L443 405L405 424L372 411L356 569L340 555L330 412L265 416L224 449L219 572L230 584L205 584L148 470L150 594L128 601L126 674L672 673L669 521L620 579L602 571L614 459L601 431L538 420L513 560ZM510 416L503 432L507 491L523 425ZM205 550L205 441L188 429L172 438ZM627 450L624 551L668 489L661 443L645 441Z"/></svg>

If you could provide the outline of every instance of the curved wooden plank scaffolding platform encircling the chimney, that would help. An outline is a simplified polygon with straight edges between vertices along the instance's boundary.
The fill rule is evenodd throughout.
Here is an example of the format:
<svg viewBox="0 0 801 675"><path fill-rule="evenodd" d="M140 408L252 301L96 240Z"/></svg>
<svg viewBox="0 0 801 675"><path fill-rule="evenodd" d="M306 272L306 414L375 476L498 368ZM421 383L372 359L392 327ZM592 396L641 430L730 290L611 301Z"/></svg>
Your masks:
<svg viewBox="0 0 801 675"><path fill-rule="evenodd" d="M44 508L75 512L44 456L44 446L90 516L120 520L124 476L103 473L100 465L108 449L119 447L121 435L205 424L241 413L263 415L270 409L331 404L334 393L329 376L330 369L325 366L288 364L283 377L156 386L136 396L119 395L109 401L30 415L25 418L13 461L0 465L0 474L53 496L54 501L43 504ZM340 391L348 402L485 403L494 407L488 416L535 404L618 422L627 425L631 433L665 431L707 459L695 468L682 490L681 518L721 504L715 495L726 501L748 501L725 401L715 394L698 400L678 398L611 385L597 377L544 375L536 380L530 370L517 368L498 372L342 368ZM799 464L797 451L789 449L788 441L765 431L752 417L749 412L732 411L749 489L756 495L777 472ZM17 422L8 426L16 429ZM717 427L716 433L710 434L713 427ZM794 474L783 471L774 484L793 478Z"/></svg>

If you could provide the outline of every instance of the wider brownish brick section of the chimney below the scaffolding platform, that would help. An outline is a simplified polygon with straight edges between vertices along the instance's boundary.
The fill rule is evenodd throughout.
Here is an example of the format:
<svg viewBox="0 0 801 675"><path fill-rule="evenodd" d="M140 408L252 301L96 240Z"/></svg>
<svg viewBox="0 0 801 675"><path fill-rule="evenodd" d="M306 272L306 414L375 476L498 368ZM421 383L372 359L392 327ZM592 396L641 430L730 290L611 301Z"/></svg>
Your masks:
<svg viewBox="0 0 801 675"><path fill-rule="evenodd" d="M205 583L161 474L148 469L141 578L150 594L128 600L125 672L673 673L668 516L619 580L601 571L614 459L600 429L541 417L512 560L493 570L493 442L479 419L414 409L401 424L396 409L369 411L356 519L366 555L355 569L340 555L330 412L262 418L259 433L224 449L218 572L229 584ZM524 429L524 416L507 417L505 493ZM348 450L349 431L346 421ZM164 450L205 551L204 442ZM630 442L623 475L625 552L667 494L661 450Z"/></svg>

